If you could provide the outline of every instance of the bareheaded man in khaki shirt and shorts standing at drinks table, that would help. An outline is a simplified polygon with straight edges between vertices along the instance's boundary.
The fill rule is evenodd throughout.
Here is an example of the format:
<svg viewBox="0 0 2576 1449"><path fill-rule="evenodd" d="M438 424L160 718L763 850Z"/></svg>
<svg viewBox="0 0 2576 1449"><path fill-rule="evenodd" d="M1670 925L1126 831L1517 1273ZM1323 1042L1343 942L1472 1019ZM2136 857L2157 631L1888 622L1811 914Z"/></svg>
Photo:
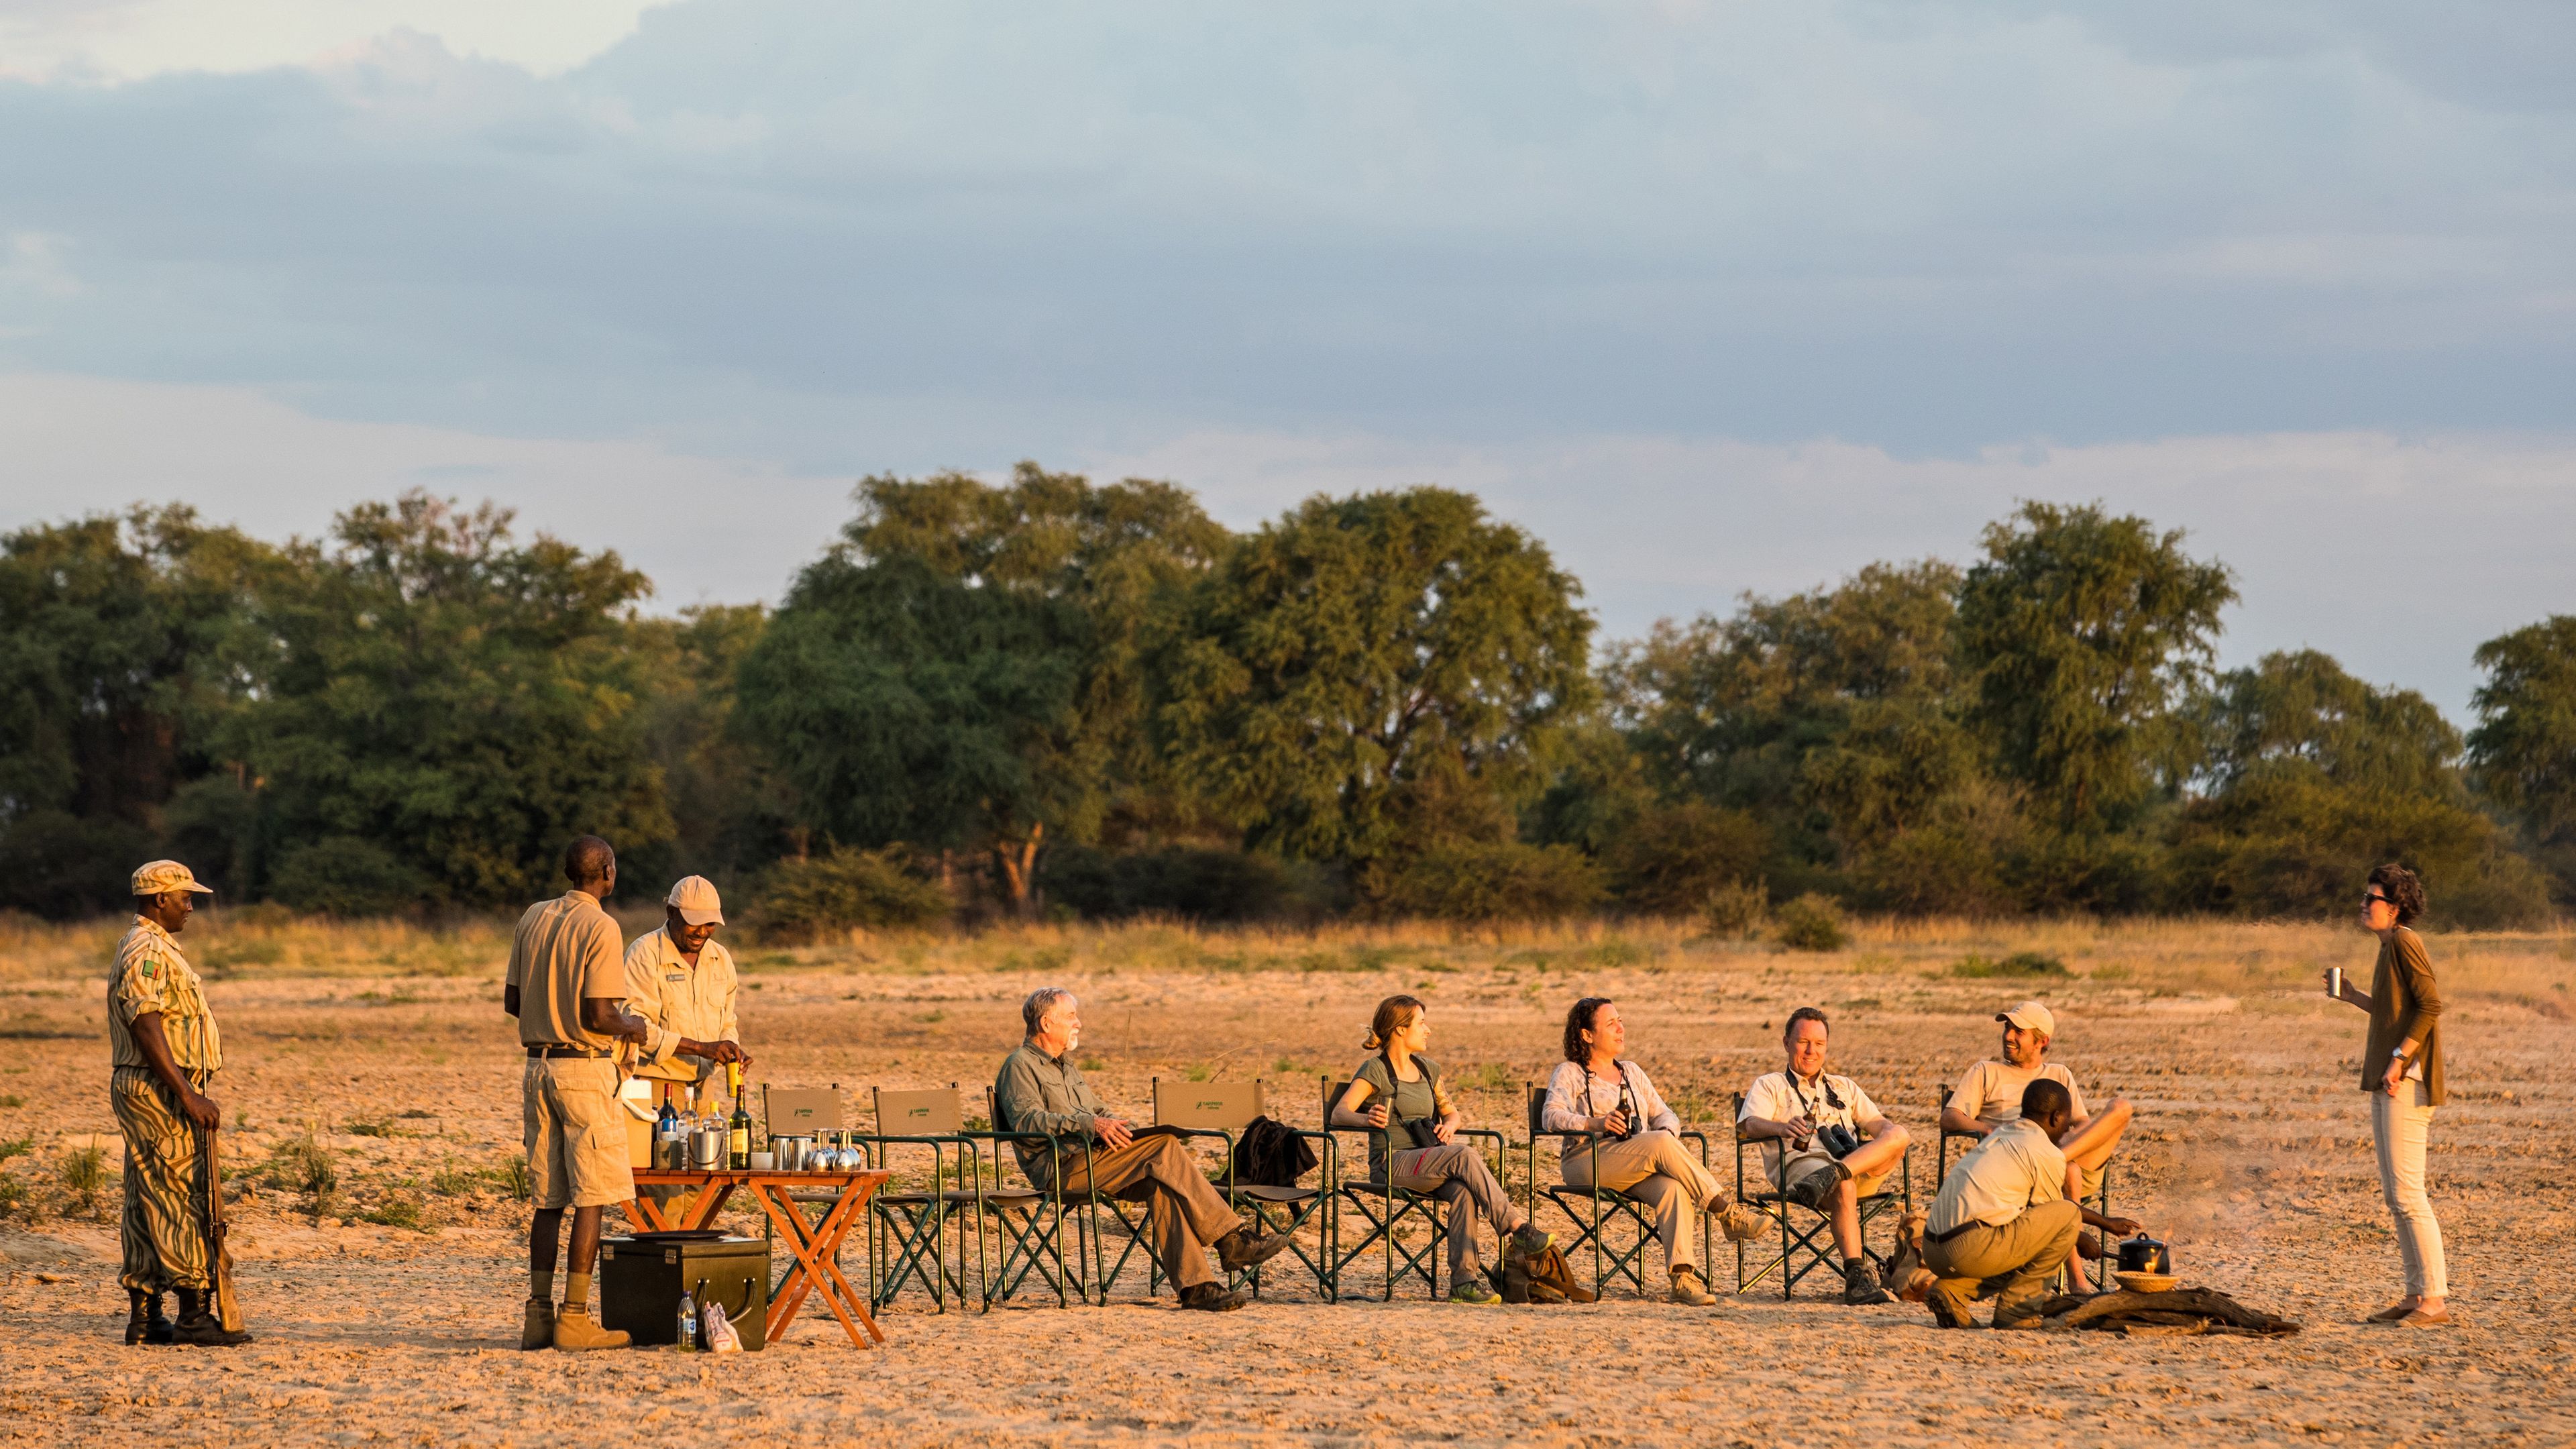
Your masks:
<svg viewBox="0 0 2576 1449"><path fill-rule="evenodd" d="M528 1049L520 1078L520 1137L528 1145L528 1183L536 1217L528 1225L528 1310L520 1348L623 1348L590 1318L590 1266L600 1253L600 1209L631 1201L626 1168L626 1109L618 1104L618 1042L647 1052L665 1047L662 1031L626 1013L626 967L618 962L618 923L600 908L618 887L618 856L608 841L582 835L564 848L572 890L541 900L518 918L502 1011L518 1018ZM554 1307L554 1256L572 1209L572 1274L564 1307Z"/></svg>

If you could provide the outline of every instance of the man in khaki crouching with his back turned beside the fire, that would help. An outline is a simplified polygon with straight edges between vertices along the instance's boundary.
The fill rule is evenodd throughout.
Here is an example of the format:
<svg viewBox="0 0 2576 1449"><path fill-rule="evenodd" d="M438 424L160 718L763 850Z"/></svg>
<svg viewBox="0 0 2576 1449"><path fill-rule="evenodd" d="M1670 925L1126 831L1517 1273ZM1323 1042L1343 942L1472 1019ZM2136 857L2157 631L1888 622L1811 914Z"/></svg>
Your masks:
<svg viewBox="0 0 2576 1449"><path fill-rule="evenodd" d="M1971 1299L1994 1297L1996 1328L2040 1328L2040 1294L2084 1217L2069 1201L2081 1171L2058 1150L2074 1119L2063 1083L2022 1088L2022 1114L1986 1134L1942 1178L1924 1220L1924 1305L1942 1328L1976 1328Z"/></svg>

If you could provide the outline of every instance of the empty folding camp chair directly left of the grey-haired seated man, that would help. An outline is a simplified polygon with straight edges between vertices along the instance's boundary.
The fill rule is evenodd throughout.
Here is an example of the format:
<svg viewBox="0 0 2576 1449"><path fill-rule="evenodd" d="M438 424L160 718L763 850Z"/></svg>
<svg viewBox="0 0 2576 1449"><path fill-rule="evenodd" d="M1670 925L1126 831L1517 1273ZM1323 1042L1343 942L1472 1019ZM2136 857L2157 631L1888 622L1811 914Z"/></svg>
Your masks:
<svg viewBox="0 0 2576 1449"><path fill-rule="evenodd" d="M868 1307L884 1312L907 1281L917 1281L940 1312L948 1297L966 1302L966 1225L984 1256L984 1152L966 1137L966 1109L956 1083L927 1091L871 1091L876 1134L860 1137L878 1168L891 1171L896 1147L930 1155L930 1186L881 1191L868 1199ZM956 1183L956 1186L948 1186ZM948 1263L948 1222L958 1225L956 1266Z"/></svg>

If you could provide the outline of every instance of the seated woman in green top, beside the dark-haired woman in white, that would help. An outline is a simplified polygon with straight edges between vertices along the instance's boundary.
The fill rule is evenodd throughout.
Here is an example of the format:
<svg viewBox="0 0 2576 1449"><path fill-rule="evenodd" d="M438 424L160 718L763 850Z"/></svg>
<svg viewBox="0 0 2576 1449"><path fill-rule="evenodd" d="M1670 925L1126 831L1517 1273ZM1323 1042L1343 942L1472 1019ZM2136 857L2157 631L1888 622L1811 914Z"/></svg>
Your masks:
<svg viewBox="0 0 2576 1449"><path fill-rule="evenodd" d="M1502 1183L1494 1181L1494 1168L1484 1165L1476 1147L1453 1142L1458 1106L1440 1083L1440 1067L1422 1055L1430 1039L1432 1024L1422 1000L1412 995L1381 1000L1378 1016L1368 1026L1368 1049L1376 1057L1350 1073L1350 1088L1342 1101L1332 1104L1332 1124L1370 1129L1368 1181L1435 1196L1448 1207L1450 1281L1455 1284L1450 1302L1502 1302L1476 1263L1476 1212L1468 1212L1461 1199L1473 1199L1512 1261L1546 1253L1556 1235L1540 1232L1512 1207Z"/></svg>

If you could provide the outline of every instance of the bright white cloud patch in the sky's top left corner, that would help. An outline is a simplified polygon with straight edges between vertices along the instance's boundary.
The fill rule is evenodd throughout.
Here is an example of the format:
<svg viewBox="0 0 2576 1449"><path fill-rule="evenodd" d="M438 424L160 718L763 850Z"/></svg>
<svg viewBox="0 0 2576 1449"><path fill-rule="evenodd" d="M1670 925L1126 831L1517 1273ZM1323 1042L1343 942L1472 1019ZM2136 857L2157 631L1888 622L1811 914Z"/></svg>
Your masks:
<svg viewBox="0 0 2576 1449"><path fill-rule="evenodd" d="M559 75L670 0L33 0L0 8L0 77L149 80L314 64L417 31Z"/></svg>

